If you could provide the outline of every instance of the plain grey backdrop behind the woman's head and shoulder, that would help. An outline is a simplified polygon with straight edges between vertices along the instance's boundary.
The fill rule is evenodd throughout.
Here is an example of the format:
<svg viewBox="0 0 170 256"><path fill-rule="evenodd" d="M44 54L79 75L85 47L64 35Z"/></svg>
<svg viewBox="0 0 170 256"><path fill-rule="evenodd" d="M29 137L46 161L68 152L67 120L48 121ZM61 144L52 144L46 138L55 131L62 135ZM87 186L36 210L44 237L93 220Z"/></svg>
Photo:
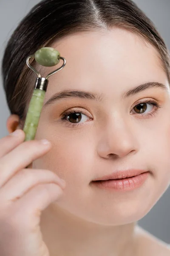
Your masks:
<svg viewBox="0 0 170 256"><path fill-rule="evenodd" d="M40 0L0 0L0 64L6 42L18 22ZM134 0L155 23L170 49L170 0ZM6 120L10 115L0 81L0 138L8 134ZM170 187L139 225L170 244Z"/></svg>

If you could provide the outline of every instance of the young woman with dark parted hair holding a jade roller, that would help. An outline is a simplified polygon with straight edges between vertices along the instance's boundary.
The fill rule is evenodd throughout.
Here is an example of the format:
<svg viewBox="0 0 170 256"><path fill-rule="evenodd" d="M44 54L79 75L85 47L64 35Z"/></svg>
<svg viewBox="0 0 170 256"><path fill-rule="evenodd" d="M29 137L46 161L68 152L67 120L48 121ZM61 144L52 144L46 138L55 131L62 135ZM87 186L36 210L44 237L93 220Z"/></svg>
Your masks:
<svg viewBox="0 0 170 256"><path fill-rule="evenodd" d="M36 79L26 58L47 46L67 64L24 142ZM137 225L170 185L170 56L148 17L130 0L44 0L11 36L2 70L0 255L169 256Z"/></svg>

